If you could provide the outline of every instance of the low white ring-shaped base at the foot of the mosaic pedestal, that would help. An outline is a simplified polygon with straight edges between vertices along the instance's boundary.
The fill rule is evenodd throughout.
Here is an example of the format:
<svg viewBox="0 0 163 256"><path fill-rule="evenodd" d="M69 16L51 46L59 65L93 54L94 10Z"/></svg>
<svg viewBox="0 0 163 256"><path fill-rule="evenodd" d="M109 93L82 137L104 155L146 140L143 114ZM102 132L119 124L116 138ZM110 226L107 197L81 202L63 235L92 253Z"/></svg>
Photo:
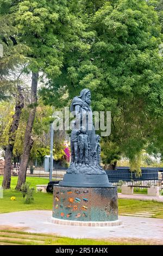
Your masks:
<svg viewBox="0 0 163 256"><path fill-rule="evenodd" d="M70 225L78 227L115 227L122 225L122 221L67 221L59 218L48 218L48 222L58 225Z"/></svg>

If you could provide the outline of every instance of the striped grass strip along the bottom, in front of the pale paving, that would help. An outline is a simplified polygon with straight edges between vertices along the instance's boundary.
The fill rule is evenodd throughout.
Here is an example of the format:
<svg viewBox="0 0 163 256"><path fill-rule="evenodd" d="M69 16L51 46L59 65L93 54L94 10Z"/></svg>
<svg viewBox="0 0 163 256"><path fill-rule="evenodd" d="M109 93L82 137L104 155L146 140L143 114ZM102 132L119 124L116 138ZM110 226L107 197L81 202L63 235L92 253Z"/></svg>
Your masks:
<svg viewBox="0 0 163 256"><path fill-rule="evenodd" d="M108 239L73 239L24 231L3 230L0 228L0 245L3 243L15 243L17 245L147 245L145 241L123 242Z"/></svg>

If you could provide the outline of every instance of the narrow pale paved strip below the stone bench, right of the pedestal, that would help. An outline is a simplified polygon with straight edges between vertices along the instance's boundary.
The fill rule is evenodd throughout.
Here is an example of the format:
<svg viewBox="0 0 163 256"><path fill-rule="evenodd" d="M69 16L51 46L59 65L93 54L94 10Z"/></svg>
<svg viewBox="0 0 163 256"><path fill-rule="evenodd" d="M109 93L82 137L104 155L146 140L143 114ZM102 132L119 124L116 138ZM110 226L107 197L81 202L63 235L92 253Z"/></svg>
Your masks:
<svg viewBox="0 0 163 256"><path fill-rule="evenodd" d="M157 202L163 203L163 196L150 197L150 196L147 196L147 194L121 194L121 193L118 193L118 198L137 199L137 200L155 200Z"/></svg>

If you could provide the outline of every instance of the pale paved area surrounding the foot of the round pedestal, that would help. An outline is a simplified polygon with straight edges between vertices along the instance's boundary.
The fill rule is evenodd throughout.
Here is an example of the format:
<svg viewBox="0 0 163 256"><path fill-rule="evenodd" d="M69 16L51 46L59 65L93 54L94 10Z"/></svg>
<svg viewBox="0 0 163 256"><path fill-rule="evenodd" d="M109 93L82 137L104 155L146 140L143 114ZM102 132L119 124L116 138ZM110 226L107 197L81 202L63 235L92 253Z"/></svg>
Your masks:
<svg viewBox="0 0 163 256"><path fill-rule="evenodd" d="M55 234L74 238L93 238L122 241L146 241L163 245L163 220L120 216L120 227L71 227L48 222L52 211L20 211L0 214L0 229L20 228L21 230Z"/></svg>

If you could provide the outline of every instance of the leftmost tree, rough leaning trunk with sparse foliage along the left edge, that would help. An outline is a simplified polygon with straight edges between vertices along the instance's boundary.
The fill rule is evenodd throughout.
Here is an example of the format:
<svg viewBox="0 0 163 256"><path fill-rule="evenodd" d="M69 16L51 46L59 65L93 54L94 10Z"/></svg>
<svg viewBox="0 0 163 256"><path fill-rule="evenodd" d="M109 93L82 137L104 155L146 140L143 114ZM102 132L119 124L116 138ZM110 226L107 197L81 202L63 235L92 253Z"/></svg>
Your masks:
<svg viewBox="0 0 163 256"><path fill-rule="evenodd" d="M23 92L20 76L26 61L23 51L26 46L17 44L14 34L16 28L12 25L12 15L8 14L8 2L0 4L0 43L3 45L3 56L0 58L0 100L12 100L15 97L15 113L10 124L8 141L5 145L5 166L3 188L10 188L12 151L14 148L16 132L20 121L23 103Z"/></svg>

